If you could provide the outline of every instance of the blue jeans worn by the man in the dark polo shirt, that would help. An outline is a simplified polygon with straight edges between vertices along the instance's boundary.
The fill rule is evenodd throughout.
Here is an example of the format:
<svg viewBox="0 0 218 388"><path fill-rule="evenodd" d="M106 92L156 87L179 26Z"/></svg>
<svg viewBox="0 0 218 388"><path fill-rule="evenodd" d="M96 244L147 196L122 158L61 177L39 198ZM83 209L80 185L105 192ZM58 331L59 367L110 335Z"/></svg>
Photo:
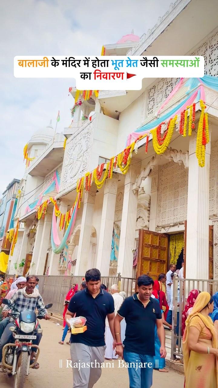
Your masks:
<svg viewBox="0 0 218 388"><path fill-rule="evenodd" d="M130 362L134 363L134 366L128 367L130 388L151 388L154 357L127 352L125 348L123 351L123 357L125 362L128 362L128 364L130 364ZM138 366L140 362L143 363L143 367ZM144 365L144 363L146 364Z"/></svg>

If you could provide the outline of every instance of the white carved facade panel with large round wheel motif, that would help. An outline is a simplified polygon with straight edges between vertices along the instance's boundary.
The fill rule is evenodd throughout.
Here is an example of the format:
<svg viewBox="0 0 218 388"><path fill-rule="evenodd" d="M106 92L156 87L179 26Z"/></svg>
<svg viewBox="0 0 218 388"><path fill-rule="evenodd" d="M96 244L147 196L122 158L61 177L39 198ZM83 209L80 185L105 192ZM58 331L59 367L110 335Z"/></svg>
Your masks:
<svg viewBox="0 0 218 388"><path fill-rule="evenodd" d="M78 178L89 169L94 123L95 120L88 121L67 140L60 183L62 195L74 189Z"/></svg>

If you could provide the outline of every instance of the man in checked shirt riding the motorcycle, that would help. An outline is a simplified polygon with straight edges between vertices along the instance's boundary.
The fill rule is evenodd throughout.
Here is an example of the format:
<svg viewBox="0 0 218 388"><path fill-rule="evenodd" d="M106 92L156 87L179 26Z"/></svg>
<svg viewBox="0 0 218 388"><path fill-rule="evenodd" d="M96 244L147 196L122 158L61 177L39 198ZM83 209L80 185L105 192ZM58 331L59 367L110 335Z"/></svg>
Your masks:
<svg viewBox="0 0 218 388"><path fill-rule="evenodd" d="M2 310L3 317L7 317L10 308L12 312L20 313L23 310L31 310L35 311L36 308L39 312L39 315L42 315L44 319L50 319L48 312L45 308L45 305L42 300L42 296L36 286L36 276L29 275L26 278L26 287L23 289L17 290L17 292L10 298L10 305L5 305ZM12 338L12 331L10 331L10 327L15 326L14 319L12 322L9 322L5 327L2 337L0 339L0 361L2 360L2 349L6 343L10 343ZM37 333L36 331L36 340L33 340L33 344L39 345L40 340L42 338L41 333ZM31 355L31 359L33 359L33 355ZM35 369L39 368L39 364L35 365Z"/></svg>

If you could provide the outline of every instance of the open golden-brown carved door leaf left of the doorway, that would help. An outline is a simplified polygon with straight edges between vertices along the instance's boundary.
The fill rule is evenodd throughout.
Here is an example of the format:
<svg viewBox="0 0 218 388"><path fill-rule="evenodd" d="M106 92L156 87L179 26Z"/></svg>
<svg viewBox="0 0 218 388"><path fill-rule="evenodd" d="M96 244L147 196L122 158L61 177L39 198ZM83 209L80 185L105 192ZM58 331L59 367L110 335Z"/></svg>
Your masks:
<svg viewBox="0 0 218 388"><path fill-rule="evenodd" d="M140 229L136 277L145 274L157 280L159 274L166 274L167 262L168 235Z"/></svg>

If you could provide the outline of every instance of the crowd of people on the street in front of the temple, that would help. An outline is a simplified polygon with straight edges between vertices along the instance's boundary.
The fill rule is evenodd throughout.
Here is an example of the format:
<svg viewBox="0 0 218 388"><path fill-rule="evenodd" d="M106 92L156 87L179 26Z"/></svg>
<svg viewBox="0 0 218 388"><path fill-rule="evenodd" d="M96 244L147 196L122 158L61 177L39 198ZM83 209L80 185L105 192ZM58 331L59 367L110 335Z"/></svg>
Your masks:
<svg viewBox="0 0 218 388"><path fill-rule="evenodd" d="M64 300L63 335L59 344L64 345L69 331L67 344L73 365L73 388L95 385L104 360L118 357L128 368L130 388L150 388L153 369L168 372L164 327L172 329L175 272L175 265L171 265L158 280L154 281L148 275L139 276L137 292L128 297L124 291L119 291L117 284L110 290L101 284L96 268L86 272L80 289L78 284L72 285ZM183 264L176 275L183 278ZM12 336L10 326L14 322L7 316L10 308L16 311L25 307L34 311L37 308L45 319L50 318L37 286L35 276L19 276L12 284L9 278L0 278L3 318L0 322L0 360L3 346ZM2 304L5 296L10 299L10 307ZM177 301L179 304L179 287ZM69 320L75 316L86 318L87 331L71 334ZM208 292L191 290L184 303L181 322L184 387L218 388L218 292L211 296ZM36 345L41 337L42 334L36 333ZM31 362L34 357L33 348ZM86 366L81 367L81 363ZM36 364L35 368L38 367Z"/></svg>

